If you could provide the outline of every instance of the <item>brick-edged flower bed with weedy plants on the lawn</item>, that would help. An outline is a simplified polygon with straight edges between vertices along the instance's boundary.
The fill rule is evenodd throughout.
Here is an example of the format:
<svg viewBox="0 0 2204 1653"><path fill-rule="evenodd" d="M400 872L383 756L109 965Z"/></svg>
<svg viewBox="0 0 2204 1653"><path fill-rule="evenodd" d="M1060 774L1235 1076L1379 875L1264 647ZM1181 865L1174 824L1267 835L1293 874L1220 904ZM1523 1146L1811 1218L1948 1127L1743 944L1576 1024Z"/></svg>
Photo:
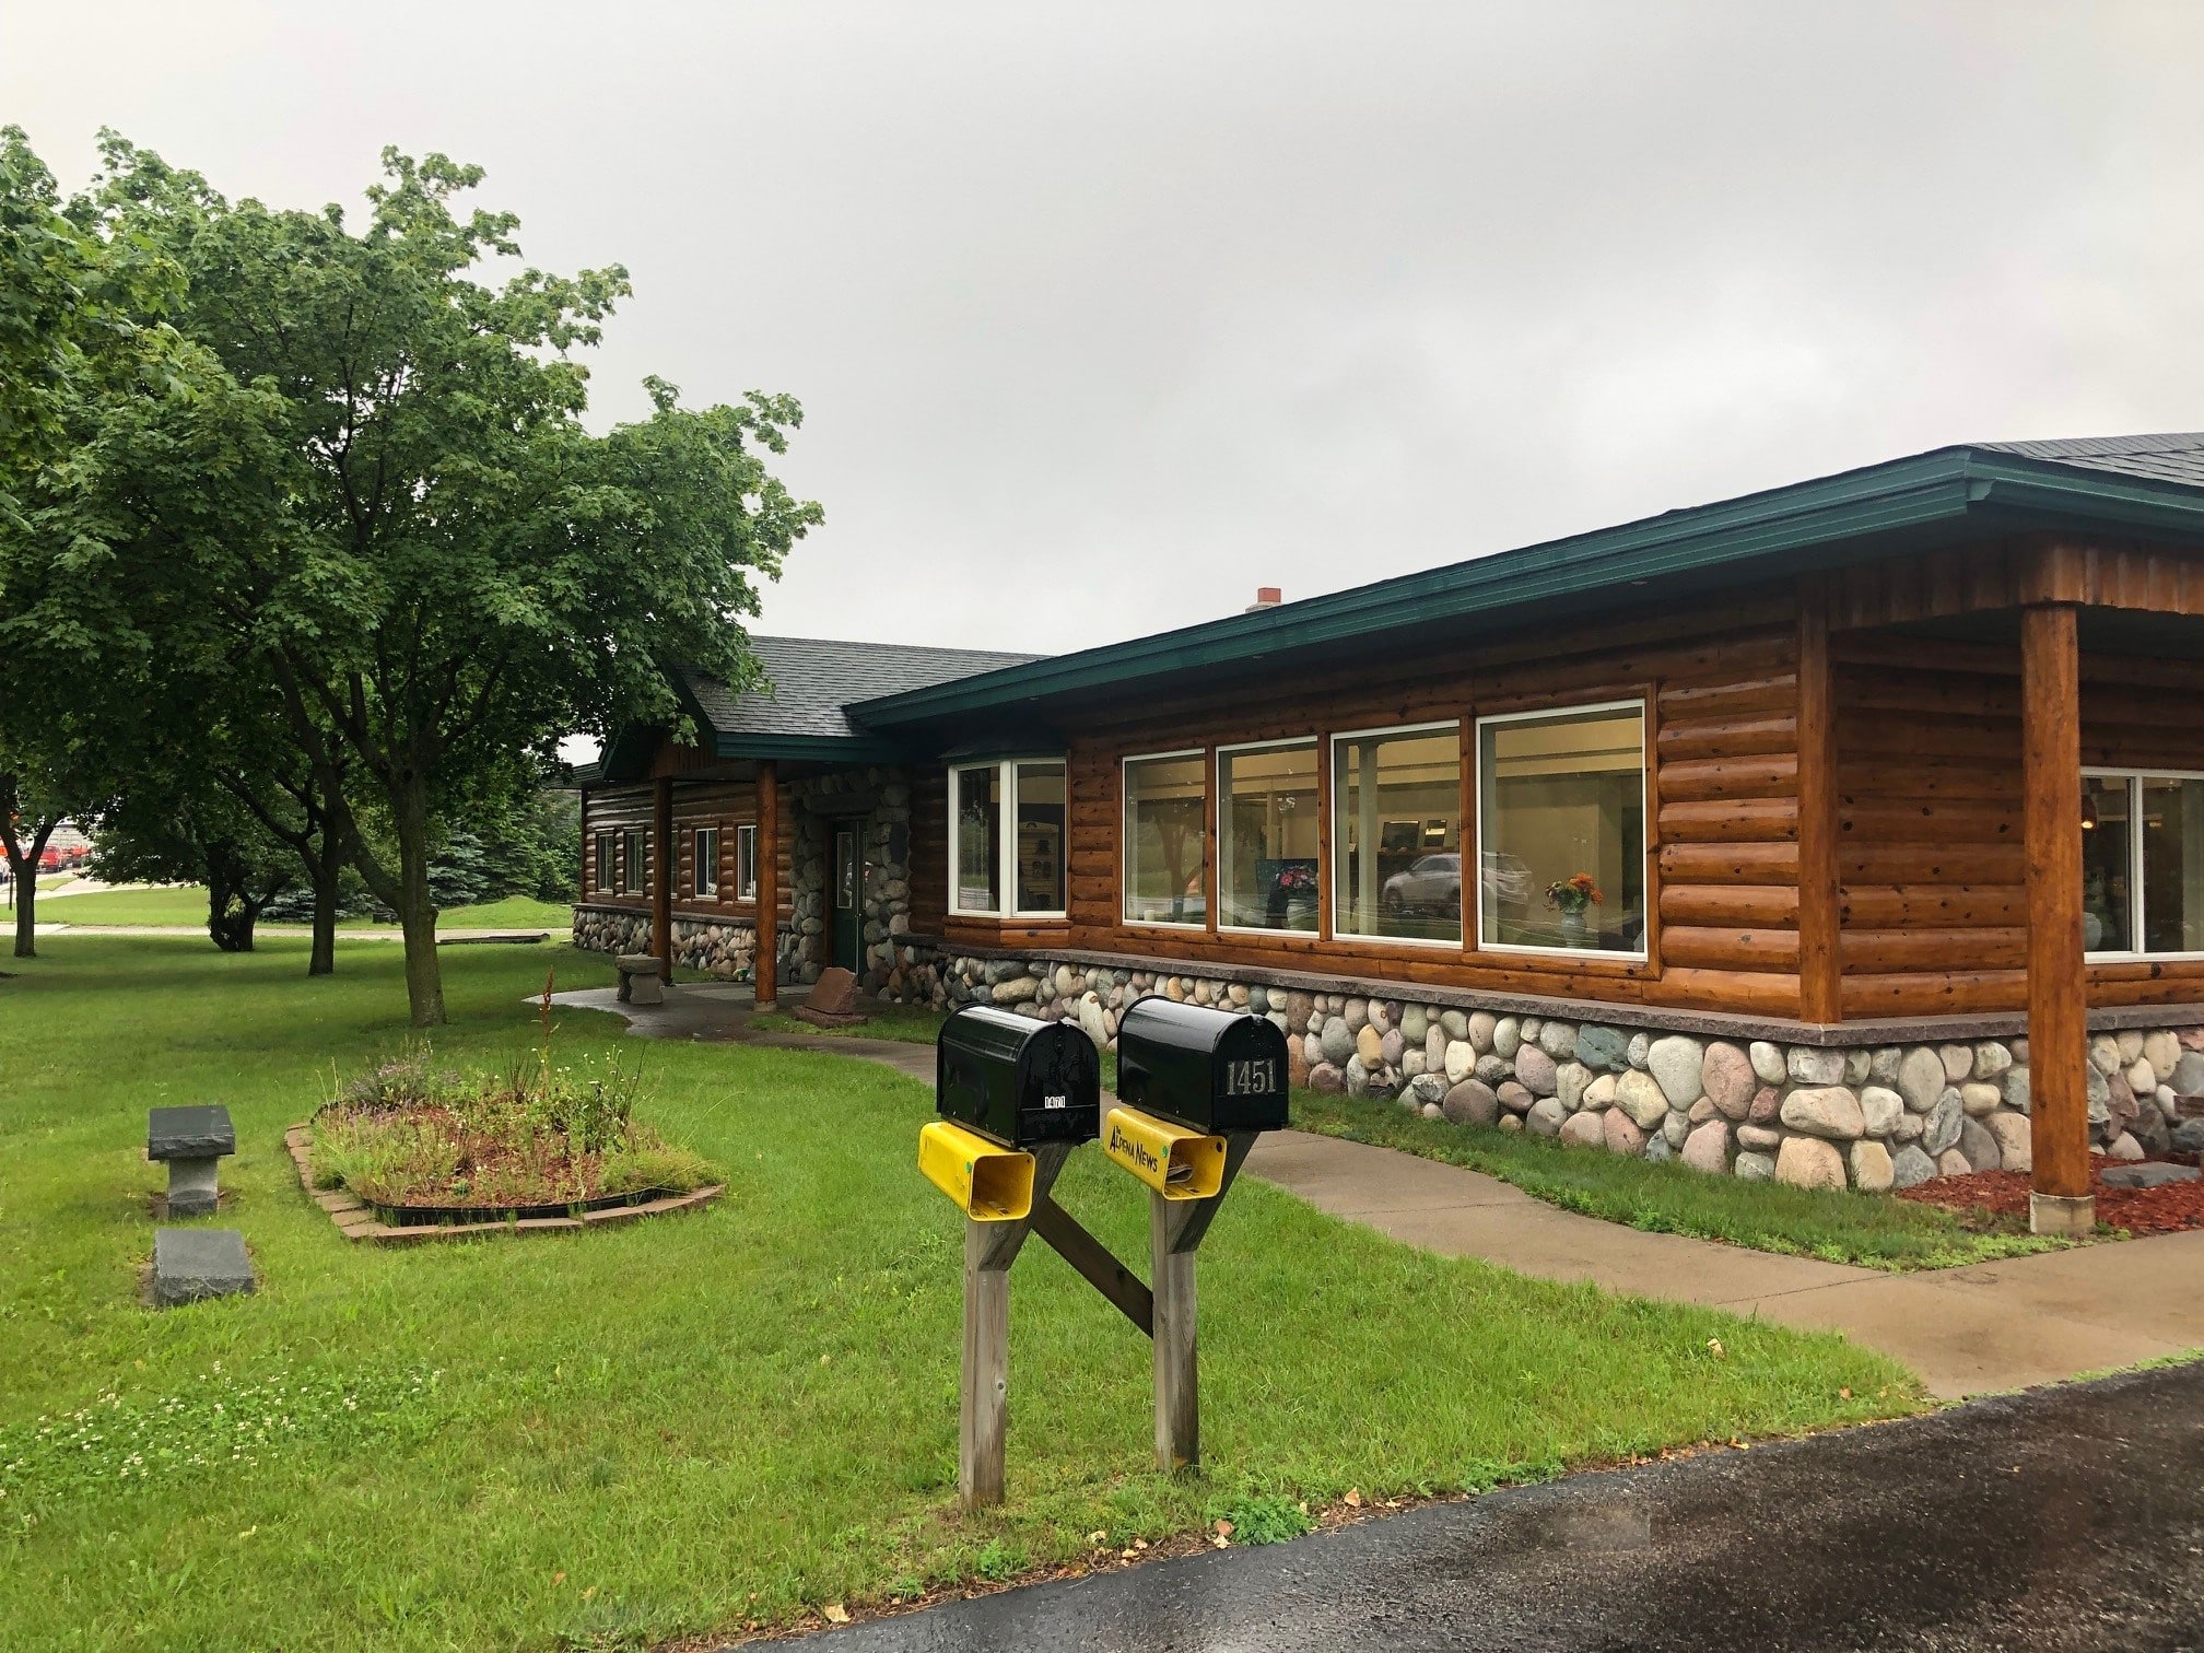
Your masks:
<svg viewBox="0 0 2204 1653"><path fill-rule="evenodd" d="M386 1223L445 1223L580 1214L716 1181L703 1157L633 1117L635 1089L597 1058L458 1073L421 1047L313 1115L313 1186L344 1188Z"/></svg>

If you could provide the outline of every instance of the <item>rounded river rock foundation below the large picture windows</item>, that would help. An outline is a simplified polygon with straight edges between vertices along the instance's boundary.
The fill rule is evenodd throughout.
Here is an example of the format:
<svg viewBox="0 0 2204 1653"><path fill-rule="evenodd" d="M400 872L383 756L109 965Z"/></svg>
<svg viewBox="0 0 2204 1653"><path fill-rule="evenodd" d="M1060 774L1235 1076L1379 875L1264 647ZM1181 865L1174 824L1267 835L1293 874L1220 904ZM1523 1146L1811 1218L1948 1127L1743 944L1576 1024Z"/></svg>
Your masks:
<svg viewBox="0 0 2204 1653"><path fill-rule="evenodd" d="M1448 1009L1054 959L910 957L882 996L1076 1020L1100 1049L1162 994L1287 1036L1294 1087L1530 1131L1706 1175L1889 1192L2028 1170L2028 1040L1816 1047ZM2089 1139L2114 1159L2204 1150L2204 1027L2089 1040Z"/></svg>

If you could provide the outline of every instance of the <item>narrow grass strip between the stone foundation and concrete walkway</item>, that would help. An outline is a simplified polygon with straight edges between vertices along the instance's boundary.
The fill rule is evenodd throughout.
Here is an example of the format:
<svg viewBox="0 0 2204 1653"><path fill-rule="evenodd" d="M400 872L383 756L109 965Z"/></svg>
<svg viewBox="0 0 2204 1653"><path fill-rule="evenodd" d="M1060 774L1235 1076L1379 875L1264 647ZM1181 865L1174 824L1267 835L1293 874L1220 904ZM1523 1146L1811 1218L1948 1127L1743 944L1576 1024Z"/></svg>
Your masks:
<svg viewBox="0 0 2204 1653"><path fill-rule="evenodd" d="M1397 1102L1296 1091L1294 1124L1483 1170L1587 1217L1827 1263L1933 1270L2067 1243L2025 1232L1977 1232L1953 1212L1911 1199L1708 1177L1677 1162L1655 1166L1516 1131L1424 1120Z"/></svg>

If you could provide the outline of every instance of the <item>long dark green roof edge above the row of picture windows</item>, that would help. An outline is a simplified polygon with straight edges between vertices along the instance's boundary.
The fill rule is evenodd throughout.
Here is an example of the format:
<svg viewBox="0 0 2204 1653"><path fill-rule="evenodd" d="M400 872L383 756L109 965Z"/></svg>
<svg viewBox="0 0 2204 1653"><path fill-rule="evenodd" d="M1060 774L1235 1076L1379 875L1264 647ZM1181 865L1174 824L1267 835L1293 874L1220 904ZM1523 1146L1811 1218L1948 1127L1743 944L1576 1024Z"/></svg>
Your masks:
<svg viewBox="0 0 2204 1653"><path fill-rule="evenodd" d="M1801 569L1882 555L1891 536L1909 531L1959 540L2028 527L2081 527L2204 540L2204 487L2169 480L2156 465L2140 474L2107 465L2107 454L2122 441L2147 454L2175 452L2175 443L2204 450L2204 436L2014 445L2030 452L1995 445L1937 447L1278 608L855 701L849 716L860 727L888 730L1166 672L1241 666L1408 624L1501 615L1552 597L1666 575L1717 575L1735 569L1737 582L1743 582L1765 577L1772 558L1790 555L1783 566ZM2034 456L2048 447L2089 452ZM2204 476L2204 469L2197 474Z"/></svg>

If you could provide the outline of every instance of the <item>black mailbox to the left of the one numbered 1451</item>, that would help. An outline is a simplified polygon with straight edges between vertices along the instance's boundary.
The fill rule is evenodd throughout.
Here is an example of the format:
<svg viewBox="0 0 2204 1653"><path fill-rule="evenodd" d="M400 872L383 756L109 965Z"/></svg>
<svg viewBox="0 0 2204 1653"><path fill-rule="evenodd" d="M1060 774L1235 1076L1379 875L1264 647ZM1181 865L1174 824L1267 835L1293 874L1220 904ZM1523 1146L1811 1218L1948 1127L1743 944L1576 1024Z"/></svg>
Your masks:
<svg viewBox="0 0 2204 1653"><path fill-rule="evenodd" d="M1093 1142L1102 1133L1102 1058L1078 1023L1007 1009L959 1009L934 1040L934 1111L1005 1148Z"/></svg>

